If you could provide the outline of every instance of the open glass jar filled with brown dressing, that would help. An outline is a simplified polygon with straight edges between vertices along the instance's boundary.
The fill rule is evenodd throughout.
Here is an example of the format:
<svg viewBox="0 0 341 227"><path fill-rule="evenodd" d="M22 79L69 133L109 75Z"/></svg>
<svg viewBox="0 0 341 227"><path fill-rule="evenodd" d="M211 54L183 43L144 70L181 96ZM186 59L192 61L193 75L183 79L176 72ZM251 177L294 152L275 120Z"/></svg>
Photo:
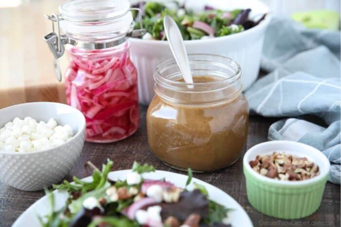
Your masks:
<svg viewBox="0 0 341 227"><path fill-rule="evenodd" d="M155 93L147 111L148 143L173 168L215 171L242 154L248 132L248 103L240 66L230 58L189 55L193 85L175 62L162 62L154 74Z"/></svg>

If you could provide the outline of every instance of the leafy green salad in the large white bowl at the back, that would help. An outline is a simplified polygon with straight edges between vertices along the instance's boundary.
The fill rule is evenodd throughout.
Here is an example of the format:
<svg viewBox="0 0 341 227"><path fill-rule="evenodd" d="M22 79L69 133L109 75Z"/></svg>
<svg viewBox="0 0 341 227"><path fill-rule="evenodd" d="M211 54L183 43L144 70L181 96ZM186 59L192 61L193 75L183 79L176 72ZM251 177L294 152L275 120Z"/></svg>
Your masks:
<svg viewBox="0 0 341 227"><path fill-rule="evenodd" d="M184 40L206 39L240 33L256 26L266 16L264 14L258 20L253 20L249 18L251 9L222 11L210 6L205 6L203 13L195 14L176 1L166 2L165 4L143 1L133 5L133 7L140 8L142 12L142 24L147 31L142 38L154 40L166 39L163 27L163 18L166 15L175 20ZM136 17L136 13L134 16ZM138 28L139 24L136 23L135 29Z"/></svg>

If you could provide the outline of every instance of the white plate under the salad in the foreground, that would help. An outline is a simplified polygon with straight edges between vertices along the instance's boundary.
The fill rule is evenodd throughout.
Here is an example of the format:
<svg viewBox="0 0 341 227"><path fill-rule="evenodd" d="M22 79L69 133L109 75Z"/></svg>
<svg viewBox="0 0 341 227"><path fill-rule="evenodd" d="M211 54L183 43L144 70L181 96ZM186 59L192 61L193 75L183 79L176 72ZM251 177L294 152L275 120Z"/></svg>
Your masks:
<svg viewBox="0 0 341 227"><path fill-rule="evenodd" d="M110 179L113 180L124 180L125 176L131 170L121 170L109 173ZM156 171L154 173L148 173L143 175L144 178L148 179L161 179L166 178L167 181L172 182L175 186L184 188L187 175L175 174L166 171ZM91 176L84 178L83 180L91 180ZM240 206L237 201L235 201L231 196L222 190L205 183L202 180L192 178L192 182L189 185L189 190L193 189L193 182L197 182L206 187L210 199L224 205L233 211L228 212L227 222L232 225L232 227L253 227L250 218L246 214L245 210ZM65 204L67 199L66 192L53 192L55 195L55 210L59 210ZM39 222L37 216L46 215L50 210L49 202L46 196L40 198L37 202L31 205L27 210L25 210L13 224L12 227L38 227Z"/></svg>

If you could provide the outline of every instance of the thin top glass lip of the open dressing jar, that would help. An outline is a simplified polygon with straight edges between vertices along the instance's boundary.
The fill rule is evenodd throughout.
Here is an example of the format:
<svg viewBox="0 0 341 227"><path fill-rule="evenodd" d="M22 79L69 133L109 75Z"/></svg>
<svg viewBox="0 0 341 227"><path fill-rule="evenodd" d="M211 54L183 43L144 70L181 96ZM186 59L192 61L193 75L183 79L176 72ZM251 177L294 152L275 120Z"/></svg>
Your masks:
<svg viewBox="0 0 341 227"><path fill-rule="evenodd" d="M199 60L193 59L195 57L198 57L198 58L210 57L210 58L220 59L222 61L226 61L227 64L230 64L231 66L235 67L235 72L233 75L230 75L229 77L227 77L225 79L221 79L221 80L195 83L196 87L201 87L201 86L213 86L213 87L215 87L215 86L220 86L220 87L221 86L228 86L228 85L233 84L237 80L241 79L241 77L242 77L242 69L241 69L240 65L237 62L235 62L232 58L222 56L222 55L217 55L217 54L206 54L206 53L188 54L188 57L189 57L189 63L199 61ZM214 62L212 60L200 60L200 61L207 61L207 62L223 65L222 63L217 63L217 62ZM162 68L170 67L172 65L177 65L174 58L169 58L169 59L159 63L156 66L156 71L154 73L155 82L161 82L161 83L168 84L169 86L175 86L175 87L176 86L190 87L192 85L190 83L186 83L186 82L182 82L182 81L176 81L176 80L172 80L172 79L169 79L167 77L162 76ZM189 89L191 89L191 88L189 88Z"/></svg>

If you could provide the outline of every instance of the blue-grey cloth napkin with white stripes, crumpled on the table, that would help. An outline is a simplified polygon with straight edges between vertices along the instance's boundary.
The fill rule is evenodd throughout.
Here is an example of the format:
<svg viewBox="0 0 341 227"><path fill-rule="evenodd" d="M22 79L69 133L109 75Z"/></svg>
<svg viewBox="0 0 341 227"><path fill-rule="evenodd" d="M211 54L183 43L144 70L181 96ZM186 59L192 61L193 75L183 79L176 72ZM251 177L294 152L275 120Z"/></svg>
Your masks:
<svg viewBox="0 0 341 227"><path fill-rule="evenodd" d="M274 17L265 34L262 68L270 71L246 91L251 114L291 117L273 123L269 140L316 147L331 162L329 181L340 184L340 31L306 29ZM328 127L298 117L321 117Z"/></svg>

